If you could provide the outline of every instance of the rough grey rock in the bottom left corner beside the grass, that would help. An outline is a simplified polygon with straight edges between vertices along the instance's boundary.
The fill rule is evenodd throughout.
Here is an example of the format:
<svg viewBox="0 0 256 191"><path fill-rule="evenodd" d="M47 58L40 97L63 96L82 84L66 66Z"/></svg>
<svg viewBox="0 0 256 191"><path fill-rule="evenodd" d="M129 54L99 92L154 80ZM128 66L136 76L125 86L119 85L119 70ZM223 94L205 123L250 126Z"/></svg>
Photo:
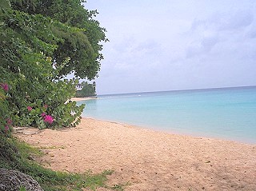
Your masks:
<svg viewBox="0 0 256 191"><path fill-rule="evenodd" d="M22 185L26 191L43 191L38 182L29 175L0 168L0 191L19 191Z"/></svg>

